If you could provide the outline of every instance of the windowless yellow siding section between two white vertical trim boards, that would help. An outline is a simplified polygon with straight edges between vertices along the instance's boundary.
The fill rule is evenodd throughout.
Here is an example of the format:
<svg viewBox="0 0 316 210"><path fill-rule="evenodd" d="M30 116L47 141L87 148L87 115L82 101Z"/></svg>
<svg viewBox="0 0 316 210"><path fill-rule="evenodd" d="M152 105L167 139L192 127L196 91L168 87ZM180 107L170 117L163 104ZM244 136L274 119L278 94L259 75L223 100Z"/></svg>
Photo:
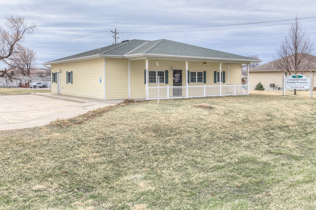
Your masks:
<svg viewBox="0 0 316 210"><path fill-rule="evenodd" d="M128 59L105 59L106 99L128 98Z"/></svg>

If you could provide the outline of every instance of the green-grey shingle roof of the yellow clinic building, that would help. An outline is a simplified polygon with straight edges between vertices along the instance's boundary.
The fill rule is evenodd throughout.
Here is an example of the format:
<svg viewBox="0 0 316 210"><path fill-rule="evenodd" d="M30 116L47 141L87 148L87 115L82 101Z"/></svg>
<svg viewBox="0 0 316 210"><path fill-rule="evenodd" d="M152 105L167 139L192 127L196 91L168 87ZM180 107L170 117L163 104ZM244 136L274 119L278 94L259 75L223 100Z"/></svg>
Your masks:
<svg viewBox="0 0 316 210"><path fill-rule="evenodd" d="M133 58L139 56L172 56L181 58L204 58L204 59L226 59L226 60L240 60L247 62L261 62L261 60L248 58L241 55L235 55L228 52L221 52L204 47L188 45L171 40L128 40L118 44L113 44L99 49L82 52L76 55L71 55L65 58L52 60L44 63L49 65L51 63L59 63L69 60L75 60L87 57L121 57Z"/></svg>

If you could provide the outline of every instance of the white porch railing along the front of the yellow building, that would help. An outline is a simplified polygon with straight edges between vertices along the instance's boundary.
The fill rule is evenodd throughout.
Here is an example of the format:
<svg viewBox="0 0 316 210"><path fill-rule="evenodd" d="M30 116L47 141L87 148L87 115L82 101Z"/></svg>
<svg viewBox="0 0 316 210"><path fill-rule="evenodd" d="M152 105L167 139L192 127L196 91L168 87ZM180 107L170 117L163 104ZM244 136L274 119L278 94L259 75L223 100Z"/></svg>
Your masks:
<svg viewBox="0 0 316 210"><path fill-rule="evenodd" d="M220 95L220 87L222 94ZM186 96L186 88L188 94ZM169 98L191 98L191 97L206 97L206 96L237 96L247 95L248 85L202 85L202 86L165 86L165 87L149 87L148 99L169 99Z"/></svg>

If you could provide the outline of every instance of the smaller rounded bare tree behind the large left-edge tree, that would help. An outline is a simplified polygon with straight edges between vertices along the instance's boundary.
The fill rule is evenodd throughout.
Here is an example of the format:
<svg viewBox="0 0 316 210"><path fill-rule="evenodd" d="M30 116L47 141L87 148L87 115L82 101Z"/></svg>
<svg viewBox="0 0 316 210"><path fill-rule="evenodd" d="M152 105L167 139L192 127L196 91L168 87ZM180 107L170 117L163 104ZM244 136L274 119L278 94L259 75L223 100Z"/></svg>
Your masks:
<svg viewBox="0 0 316 210"><path fill-rule="evenodd" d="M15 66L17 71L30 77L31 70L35 68L36 52L28 47L20 46L20 52L11 56L10 65Z"/></svg>

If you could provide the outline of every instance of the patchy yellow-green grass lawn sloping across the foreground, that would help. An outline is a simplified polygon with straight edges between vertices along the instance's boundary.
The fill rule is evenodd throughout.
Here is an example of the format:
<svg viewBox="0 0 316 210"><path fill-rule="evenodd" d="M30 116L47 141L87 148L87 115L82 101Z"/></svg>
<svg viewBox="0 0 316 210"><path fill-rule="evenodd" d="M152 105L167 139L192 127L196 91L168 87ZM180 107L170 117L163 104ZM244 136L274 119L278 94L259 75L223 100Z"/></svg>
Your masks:
<svg viewBox="0 0 316 210"><path fill-rule="evenodd" d="M308 96L134 102L1 131L0 209L315 209Z"/></svg>

